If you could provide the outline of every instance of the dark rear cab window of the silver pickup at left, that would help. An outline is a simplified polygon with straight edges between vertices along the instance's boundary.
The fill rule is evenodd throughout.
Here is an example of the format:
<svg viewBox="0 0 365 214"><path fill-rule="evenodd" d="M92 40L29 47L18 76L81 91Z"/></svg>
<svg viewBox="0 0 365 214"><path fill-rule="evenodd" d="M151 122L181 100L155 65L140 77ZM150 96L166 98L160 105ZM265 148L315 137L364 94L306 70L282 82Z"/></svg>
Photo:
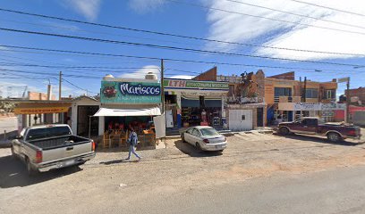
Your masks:
<svg viewBox="0 0 365 214"><path fill-rule="evenodd" d="M26 140L35 140L51 136L68 136L71 135L71 130L68 127L54 128L34 128L30 129Z"/></svg>

